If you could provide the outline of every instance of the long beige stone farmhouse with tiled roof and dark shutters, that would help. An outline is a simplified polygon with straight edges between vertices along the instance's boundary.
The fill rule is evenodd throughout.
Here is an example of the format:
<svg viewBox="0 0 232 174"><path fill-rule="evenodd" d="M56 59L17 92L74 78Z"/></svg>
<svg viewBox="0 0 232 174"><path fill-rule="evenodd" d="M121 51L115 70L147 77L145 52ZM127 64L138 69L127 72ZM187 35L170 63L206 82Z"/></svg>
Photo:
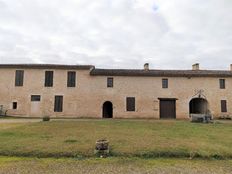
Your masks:
<svg viewBox="0 0 232 174"><path fill-rule="evenodd" d="M97 69L92 65L0 64L0 109L9 116L177 118L232 114L228 71Z"/></svg>

